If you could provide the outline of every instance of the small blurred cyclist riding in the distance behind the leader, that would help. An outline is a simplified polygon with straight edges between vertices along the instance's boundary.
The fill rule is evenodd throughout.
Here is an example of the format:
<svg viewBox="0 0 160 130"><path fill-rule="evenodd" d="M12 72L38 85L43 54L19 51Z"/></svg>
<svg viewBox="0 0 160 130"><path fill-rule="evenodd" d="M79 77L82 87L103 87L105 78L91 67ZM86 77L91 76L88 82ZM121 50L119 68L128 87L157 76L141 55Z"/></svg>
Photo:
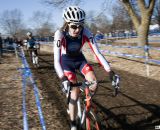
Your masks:
<svg viewBox="0 0 160 130"><path fill-rule="evenodd" d="M32 52L34 52L35 58L32 57L32 61L34 66L39 67L38 62L38 52L37 52L37 42L36 39L33 37L32 32L27 32L27 50L30 51L30 55L32 56Z"/></svg>

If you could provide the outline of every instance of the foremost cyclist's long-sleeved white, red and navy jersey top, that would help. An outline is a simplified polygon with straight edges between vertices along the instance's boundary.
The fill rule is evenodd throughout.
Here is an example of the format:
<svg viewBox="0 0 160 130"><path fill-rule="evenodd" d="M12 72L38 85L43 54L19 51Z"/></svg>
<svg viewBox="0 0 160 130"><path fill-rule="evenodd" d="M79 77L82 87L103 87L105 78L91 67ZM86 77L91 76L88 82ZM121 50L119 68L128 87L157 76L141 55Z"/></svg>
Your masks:
<svg viewBox="0 0 160 130"><path fill-rule="evenodd" d="M100 53L97 43L94 40L92 33L84 28L81 35L77 38L71 37L68 33L57 30L54 35L54 67L60 78L64 76L64 70L61 65L62 56L70 59L81 57L82 48L85 43L88 43L92 52L97 57L99 63L107 72L110 72L110 66L103 55Z"/></svg>

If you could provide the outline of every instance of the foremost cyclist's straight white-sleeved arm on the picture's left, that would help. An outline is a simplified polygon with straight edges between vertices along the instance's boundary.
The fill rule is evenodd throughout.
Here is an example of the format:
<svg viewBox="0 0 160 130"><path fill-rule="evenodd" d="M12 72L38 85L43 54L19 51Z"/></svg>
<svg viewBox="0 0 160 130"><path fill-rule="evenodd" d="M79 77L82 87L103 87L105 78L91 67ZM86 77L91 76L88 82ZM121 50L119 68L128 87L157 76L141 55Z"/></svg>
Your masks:
<svg viewBox="0 0 160 130"><path fill-rule="evenodd" d="M54 68L56 70L57 75L59 78L64 76L63 69L60 63L61 59L61 42L62 42L63 34L57 30L54 36Z"/></svg>

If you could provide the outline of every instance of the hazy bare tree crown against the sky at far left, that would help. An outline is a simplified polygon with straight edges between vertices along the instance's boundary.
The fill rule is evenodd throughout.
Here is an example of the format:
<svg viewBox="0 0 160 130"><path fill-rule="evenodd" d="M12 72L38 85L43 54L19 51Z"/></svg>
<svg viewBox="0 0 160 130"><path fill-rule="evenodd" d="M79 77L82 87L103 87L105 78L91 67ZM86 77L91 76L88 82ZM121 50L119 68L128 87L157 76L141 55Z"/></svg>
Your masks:
<svg viewBox="0 0 160 130"><path fill-rule="evenodd" d="M0 17L0 23L6 33L14 36L24 27L22 23L22 12L18 9L6 10Z"/></svg>

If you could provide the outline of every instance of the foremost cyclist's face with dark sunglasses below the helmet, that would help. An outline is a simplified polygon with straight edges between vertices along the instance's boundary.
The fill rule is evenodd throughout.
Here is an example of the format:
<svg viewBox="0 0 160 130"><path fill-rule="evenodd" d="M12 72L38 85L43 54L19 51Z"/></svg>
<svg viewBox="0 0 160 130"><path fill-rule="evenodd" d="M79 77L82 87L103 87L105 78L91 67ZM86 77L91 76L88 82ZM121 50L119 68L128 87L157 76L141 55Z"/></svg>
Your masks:
<svg viewBox="0 0 160 130"><path fill-rule="evenodd" d="M78 37L83 28L83 24L69 23L68 26L69 26L69 34L72 37Z"/></svg>

